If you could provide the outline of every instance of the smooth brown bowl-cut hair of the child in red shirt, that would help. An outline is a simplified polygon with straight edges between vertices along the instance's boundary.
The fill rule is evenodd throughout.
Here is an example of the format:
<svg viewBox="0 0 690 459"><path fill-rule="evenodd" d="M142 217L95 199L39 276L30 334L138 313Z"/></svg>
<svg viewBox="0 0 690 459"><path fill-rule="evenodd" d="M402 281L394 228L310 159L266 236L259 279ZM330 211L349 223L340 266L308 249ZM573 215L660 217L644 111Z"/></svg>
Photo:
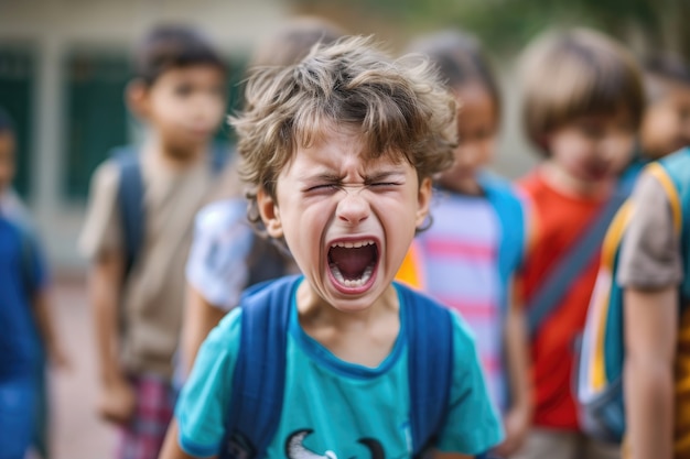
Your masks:
<svg viewBox="0 0 690 459"><path fill-rule="evenodd" d="M625 109L639 127L642 73L626 48L600 32L548 32L527 47L520 70L526 134L543 153L549 133L582 116Z"/></svg>

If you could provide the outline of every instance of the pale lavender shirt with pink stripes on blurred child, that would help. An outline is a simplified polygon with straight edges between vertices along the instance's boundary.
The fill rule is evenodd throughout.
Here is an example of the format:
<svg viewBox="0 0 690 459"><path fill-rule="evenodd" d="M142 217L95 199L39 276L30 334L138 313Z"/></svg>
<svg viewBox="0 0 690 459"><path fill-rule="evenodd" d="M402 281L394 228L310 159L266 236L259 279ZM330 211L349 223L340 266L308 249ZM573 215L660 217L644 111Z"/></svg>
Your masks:
<svg viewBox="0 0 690 459"><path fill-rule="evenodd" d="M417 238L422 288L459 312L475 334L486 382L505 409L502 285L498 270L500 221L490 201L442 190L434 195L433 225Z"/></svg>

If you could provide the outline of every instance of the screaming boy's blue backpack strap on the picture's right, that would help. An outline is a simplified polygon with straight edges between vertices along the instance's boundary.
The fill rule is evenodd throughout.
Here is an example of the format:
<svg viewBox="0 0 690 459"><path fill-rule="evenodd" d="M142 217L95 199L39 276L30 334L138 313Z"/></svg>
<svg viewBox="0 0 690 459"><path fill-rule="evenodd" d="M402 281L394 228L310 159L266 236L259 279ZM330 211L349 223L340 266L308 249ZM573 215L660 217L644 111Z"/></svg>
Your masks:
<svg viewBox="0 0 690 459"><path fill-rule="evenodd" d="M408 338L410 429L414 457L433 447L443 428L453 381L453 320L431 298L396 284Z"/></svg>

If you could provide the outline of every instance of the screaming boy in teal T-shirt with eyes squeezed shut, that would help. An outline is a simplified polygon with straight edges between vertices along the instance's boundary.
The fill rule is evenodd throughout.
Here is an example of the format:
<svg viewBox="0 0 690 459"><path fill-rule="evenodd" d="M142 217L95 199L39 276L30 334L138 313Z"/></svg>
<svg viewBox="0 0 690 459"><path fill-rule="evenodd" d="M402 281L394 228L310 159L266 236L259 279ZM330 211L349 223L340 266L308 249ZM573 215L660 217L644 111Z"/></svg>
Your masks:
<svg viewBox="0 0 690 459"><path fill-rule="evenodd" d="M211 332L161 458L410 458L427 447L467 458L500 440L462 319L391 283L427 218L431 175L452 161L454 114L425 66L363 39L251 77L234 120L241 173L304 276L245 296Z"/></svg>

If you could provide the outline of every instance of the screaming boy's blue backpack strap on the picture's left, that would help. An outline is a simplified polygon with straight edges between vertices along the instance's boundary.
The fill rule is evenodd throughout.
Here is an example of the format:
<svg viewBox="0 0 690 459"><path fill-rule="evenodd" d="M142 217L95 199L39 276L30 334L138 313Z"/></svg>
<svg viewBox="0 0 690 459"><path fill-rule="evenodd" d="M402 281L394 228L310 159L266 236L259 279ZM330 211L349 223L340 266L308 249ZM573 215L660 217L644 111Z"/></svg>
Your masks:
<svg viewBox="0 0 690 459"><path fill-rule="evenodd" d="M300 280L282 277L242 295L239 352L220 459L262 458L276 435L283 404L290 309Z"/></svg>

